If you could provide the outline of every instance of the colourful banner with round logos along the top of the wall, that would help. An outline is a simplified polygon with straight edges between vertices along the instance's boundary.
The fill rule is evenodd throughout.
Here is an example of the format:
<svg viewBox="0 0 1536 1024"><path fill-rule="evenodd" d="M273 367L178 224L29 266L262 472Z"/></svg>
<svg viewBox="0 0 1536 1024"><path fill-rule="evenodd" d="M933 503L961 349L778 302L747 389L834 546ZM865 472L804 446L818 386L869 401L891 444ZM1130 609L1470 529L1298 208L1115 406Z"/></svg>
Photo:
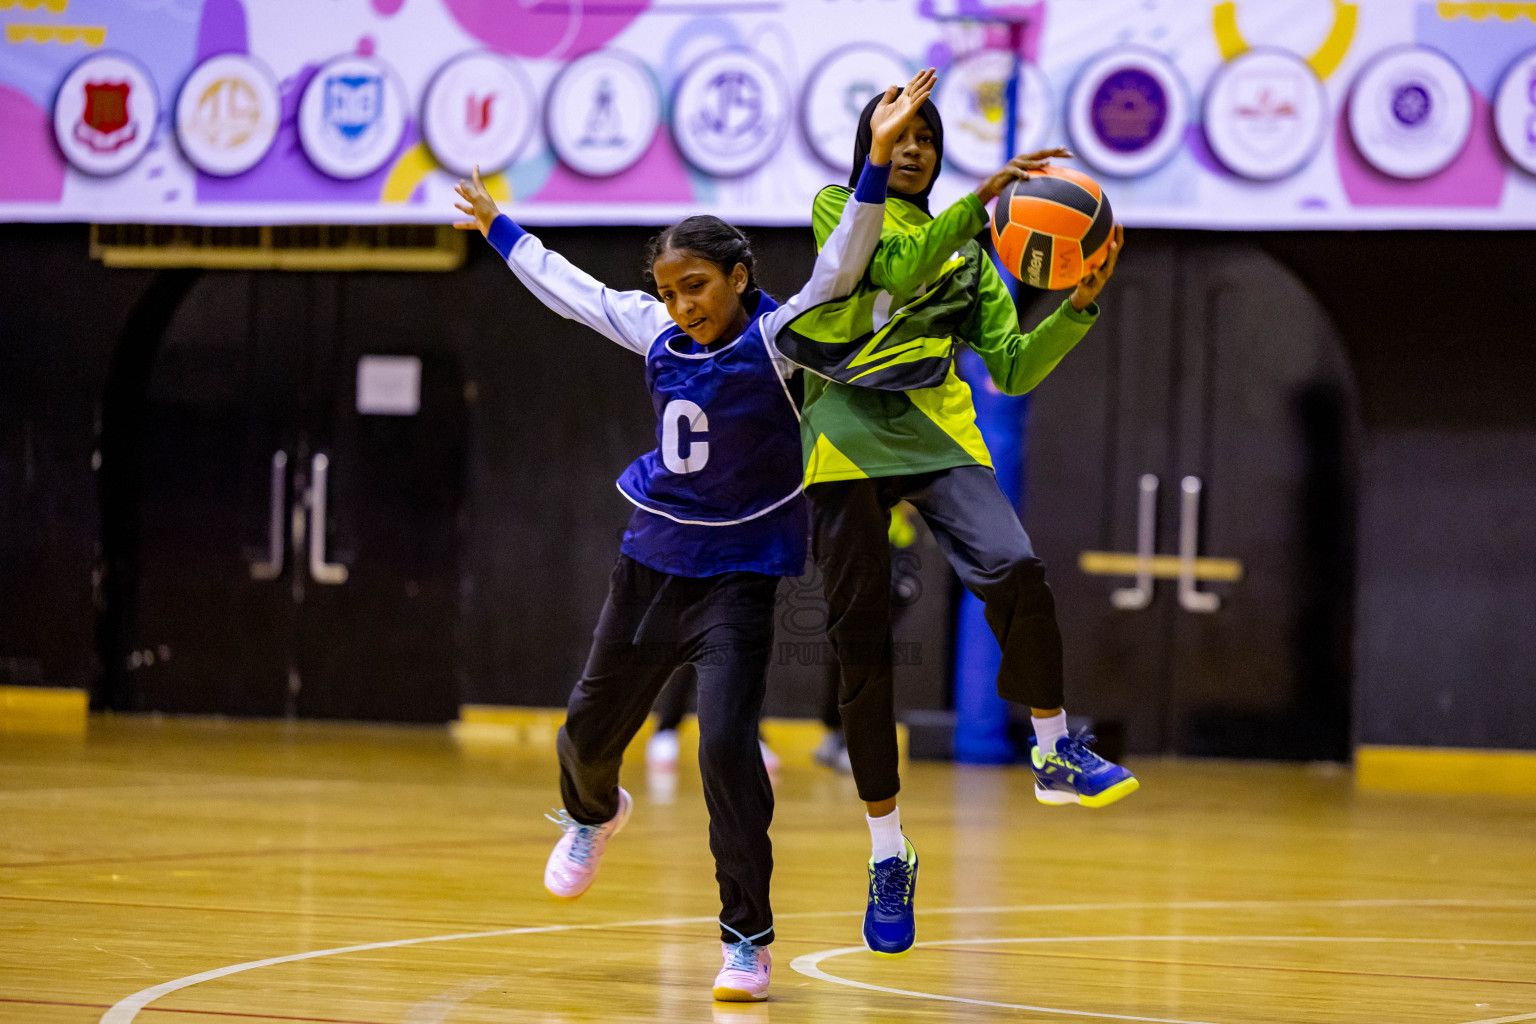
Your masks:
<svg viewBox="0 0 1536 1024"><path fill-rule="evenodd" d="M978 20L982 18L982 20ZM1006 20L1023 25L1011 35ZM0 0L0 220L806 224L940 68L937 203L1066 144L1126 224L1536 227L1536 3Z"/></svg>

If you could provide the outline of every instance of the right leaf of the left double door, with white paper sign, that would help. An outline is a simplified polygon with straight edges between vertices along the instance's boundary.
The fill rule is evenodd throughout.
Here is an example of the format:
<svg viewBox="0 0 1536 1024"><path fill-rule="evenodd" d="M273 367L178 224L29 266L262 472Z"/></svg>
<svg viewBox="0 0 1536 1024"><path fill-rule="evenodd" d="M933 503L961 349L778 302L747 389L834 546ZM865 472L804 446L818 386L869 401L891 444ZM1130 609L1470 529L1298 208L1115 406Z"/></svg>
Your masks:
<svg viewBox="0 0 1536 1024"><path fill-rule="evenodd" d="M323 276L319 296L313 330L332 344L315 367L304 465L315 496L324 459L326 514L312 499L309 522L326 530L330 568L303 586L298 714L447 722L461 703L464 373L418 278ZM381 359L416 379L415 401L392 391L404 402L395 411L369 405L359 385L359 362Z"/></svg>

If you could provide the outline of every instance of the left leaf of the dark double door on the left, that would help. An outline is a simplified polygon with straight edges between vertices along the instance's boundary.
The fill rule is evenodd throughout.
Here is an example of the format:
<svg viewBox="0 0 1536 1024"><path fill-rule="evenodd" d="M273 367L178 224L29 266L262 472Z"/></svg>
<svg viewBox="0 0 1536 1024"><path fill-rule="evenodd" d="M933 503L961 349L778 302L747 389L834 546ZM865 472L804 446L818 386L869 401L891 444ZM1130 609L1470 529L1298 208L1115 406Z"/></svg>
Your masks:
<svg viewBox="0 0 1536 1024"><path fill-rule="evenodd" d="M295 433L303 307L289 284L204 275L158 339L134 445L137 488L103 510L137 525L137 609L126 646L111 652L132 680L132 709L289 708L293 608L276 567L261 570L272 557L273 454ZM276 485L281 511L290 490L281 459Z"/></svg>

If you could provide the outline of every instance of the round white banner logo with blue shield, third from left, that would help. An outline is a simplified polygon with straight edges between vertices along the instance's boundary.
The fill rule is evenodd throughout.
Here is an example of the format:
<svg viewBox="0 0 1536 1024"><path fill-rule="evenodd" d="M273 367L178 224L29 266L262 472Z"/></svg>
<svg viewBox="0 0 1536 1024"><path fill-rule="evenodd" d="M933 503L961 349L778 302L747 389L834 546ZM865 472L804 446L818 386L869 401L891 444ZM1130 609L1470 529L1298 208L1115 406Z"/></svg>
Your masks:
<svg viewBox="0 0 1536 1024"><path fill-rule="evenodd" d="M304 154L332 178L364 178L395 155L406 134L406 89L376 57L338 57L298 104Z"/></svg>

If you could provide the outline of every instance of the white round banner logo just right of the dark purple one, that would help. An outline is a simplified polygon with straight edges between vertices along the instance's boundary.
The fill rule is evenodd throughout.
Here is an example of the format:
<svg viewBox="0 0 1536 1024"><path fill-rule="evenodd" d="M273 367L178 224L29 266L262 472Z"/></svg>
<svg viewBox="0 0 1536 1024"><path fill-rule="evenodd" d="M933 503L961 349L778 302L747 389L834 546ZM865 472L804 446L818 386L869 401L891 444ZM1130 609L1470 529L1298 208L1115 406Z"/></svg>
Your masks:
<svg viewBox="0 0 1536 1024"><path fill-rule="evenodd" d="M1322 144L1327 94L1295 54L1249 51L1206 89L1206 141L1232 173L1273 181L1299 170Z"/></svg>

